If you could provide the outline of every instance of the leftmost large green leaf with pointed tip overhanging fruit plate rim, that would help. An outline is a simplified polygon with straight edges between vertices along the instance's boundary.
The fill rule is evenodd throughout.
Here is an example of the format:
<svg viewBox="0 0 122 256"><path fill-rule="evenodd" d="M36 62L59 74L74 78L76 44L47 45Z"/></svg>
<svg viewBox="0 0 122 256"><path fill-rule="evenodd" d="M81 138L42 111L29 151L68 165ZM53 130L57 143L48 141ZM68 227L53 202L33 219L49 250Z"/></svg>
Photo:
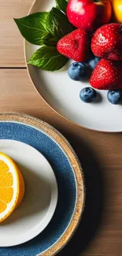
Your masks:
<svg viewBox="0 0 122 256"><path fill-rule="evenodd" d="M42 37L47 35L46 18L48 13L34 13L27 17L14 19L20 33L28 42L35 45L43 45Z"/></svg>

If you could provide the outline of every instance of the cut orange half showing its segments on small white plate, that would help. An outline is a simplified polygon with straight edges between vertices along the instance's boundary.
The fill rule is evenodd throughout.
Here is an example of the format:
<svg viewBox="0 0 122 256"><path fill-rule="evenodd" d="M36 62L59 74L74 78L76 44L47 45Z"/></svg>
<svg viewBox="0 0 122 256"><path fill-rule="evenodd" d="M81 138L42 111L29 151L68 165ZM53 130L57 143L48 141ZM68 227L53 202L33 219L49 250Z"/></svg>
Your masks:
<svg viewBox="0 0 122 256"><path fill-rule="evenodd" d="M0 222L19 206L24 197L24 179L14 161L0 152Z"/></svg>

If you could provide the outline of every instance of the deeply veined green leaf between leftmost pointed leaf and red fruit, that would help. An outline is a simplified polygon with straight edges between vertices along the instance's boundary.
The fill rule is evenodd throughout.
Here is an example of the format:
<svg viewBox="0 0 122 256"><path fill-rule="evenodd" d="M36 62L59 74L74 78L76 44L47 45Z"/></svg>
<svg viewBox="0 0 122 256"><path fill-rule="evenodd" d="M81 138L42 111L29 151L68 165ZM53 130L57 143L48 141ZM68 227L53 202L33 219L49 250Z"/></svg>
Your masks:
<svg viewBox="0 0 122 256"><path fill-rule="evenodd" d="M54 35L54 38L57 40L74 30L65 14L54 7L47 15L46 29L50 34Z"/></svg>

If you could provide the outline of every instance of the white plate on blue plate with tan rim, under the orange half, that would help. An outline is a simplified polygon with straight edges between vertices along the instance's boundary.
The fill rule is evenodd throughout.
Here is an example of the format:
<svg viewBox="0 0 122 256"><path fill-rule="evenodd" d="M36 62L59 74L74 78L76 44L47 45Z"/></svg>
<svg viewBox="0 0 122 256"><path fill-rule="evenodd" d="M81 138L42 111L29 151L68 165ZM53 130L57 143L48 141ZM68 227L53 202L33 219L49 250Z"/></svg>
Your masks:
<svg viewBox="0 0 122 256"><path fill-rule="evenodd" d="M49 124L0 114L0 151L19 166L25 196L0 224L0 255L55 255L76 230L84 205L83 173L67 140Z"/></svg>

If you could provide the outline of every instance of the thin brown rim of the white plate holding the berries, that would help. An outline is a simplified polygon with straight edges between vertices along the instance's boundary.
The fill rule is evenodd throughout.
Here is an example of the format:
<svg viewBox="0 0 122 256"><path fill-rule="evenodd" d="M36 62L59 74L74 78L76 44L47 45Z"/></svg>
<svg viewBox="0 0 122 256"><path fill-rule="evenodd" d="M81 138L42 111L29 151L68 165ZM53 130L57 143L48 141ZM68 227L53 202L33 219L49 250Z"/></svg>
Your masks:
<svg viewBox="0 0 122 256"><path fill-rule="evenodd" d="M36 2L36 1L37 1L37 0L34 0L34 1L32 2L31 7L30 7L30 9L29 9L29 11L28 11L28 15L31 14L31 13L33 13L33 12L32 12L32 9L33 9L33 6L35 6L35 2ZM57 110L54 109L54 107L50 106L50 104L46 101L46 99L43 98L43 95L41 95L41 94L39 93L39 90L38 90L37 87L35 86L35 83L34 83L32 77L31 77L31 74L30 74L30 72L29 72L29 65L28 65L28 63L27 63L27 58L26 58L25 43L26 43L26 40L24 39L24 60L25 60L25 65L26 65L27 71L28 71L28 76L29 76L29 78L30 78L30 80L31 80L31 83L33 84L33 87L35 87L35 91L37 91L39 97L41 97L41 98L43 99L43 101L46 103L47 106L50 107L50 109L52 109L55 113L57 113L60 117L64 118L66 121L69 121L70 123L75 124L75 125L76 125L77 127L79 127L79 128L87 129L88 131L103 132L103 133L112 133L112 134L122 132L122 131L104 131L104 130L98 130L98 129L94 129L94 128L85 127L85 126L83 126L83 125L81 125L81 124L77 124L75 121L72 121L71 119L68 119L67 117L64 117L61 113L57 112Z"/></svg>

